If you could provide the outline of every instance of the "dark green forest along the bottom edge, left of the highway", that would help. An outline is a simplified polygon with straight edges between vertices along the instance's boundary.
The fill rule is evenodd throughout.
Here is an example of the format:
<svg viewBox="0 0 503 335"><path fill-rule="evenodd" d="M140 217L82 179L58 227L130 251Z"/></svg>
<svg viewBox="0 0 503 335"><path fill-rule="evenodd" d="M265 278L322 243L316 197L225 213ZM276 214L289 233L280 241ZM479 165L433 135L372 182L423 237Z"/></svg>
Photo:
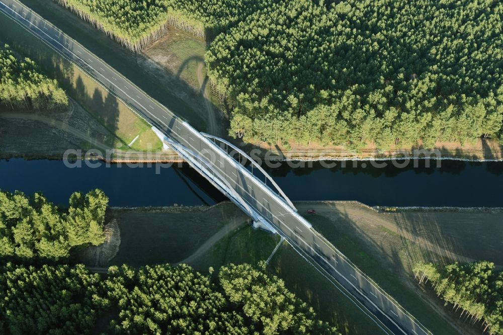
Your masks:
<svg viewBox="0 0 503 335"><path fill-rule="evenodd" d="M0 334L335 334L283 281L249 265L0 268ZM107 326L103 316L111 319ZM101 322L100 322L101 321Z"/></svg>

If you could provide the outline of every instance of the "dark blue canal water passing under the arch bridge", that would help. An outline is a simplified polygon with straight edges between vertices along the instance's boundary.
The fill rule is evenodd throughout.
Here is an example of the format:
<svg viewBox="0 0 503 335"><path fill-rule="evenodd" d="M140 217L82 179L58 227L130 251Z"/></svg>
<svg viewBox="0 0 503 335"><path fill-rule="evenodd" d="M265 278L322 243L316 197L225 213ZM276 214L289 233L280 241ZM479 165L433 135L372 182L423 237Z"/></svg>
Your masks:
<svg viewBox="0 0 503 335"><path fill-rule="evenodd" d="M368 205L503 207L503 162L442 161L441 167L408 164L377 168L369 162L317 162L266 169L291 200L358 200ZM431 162L436 166L435 162ZM365 167L363 167L365 166ZM57 160L0 160L0 189L27 194L41 191L66 204L70 194L101 188L112 206L214 204L225 200L190 167L156 168L111 165L69 169Z"/></svg>

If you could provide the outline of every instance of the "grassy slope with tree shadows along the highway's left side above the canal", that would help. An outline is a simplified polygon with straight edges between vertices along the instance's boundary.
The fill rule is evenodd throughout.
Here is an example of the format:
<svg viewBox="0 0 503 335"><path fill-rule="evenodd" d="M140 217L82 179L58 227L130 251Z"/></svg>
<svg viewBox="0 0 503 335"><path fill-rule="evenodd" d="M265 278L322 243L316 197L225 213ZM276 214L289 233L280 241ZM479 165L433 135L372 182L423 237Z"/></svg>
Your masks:
<svg viewBox="0 0 503 335"><path fill-rule="evenodd" d="M89 121L87 125L81 124L80 131L89 132L90 134L95 131L102 133L103 136L96 138L96 140L101 141L110 148L126 148L137 135L139 135L139 138L131 146L132 149L145 150L149 148L159 149L161 147L160 141L150 130L148 124L79 68L72 65L3 14L0 15L0 25L3 27L0 31L0 40L7 42L20 54L28 56L40 64L46 73L60 82L61 87L68 93L70 98L80 105L72 110L74 113L89 112L92 118L76 116L81 121ZM67 115L56 113L41 116L60 121L64 120ZM12 116L10 119L12 119ZM42 132L47 129L47 123L35 122L33 124L36 124L37 128L43 129ZM108 136L106 131L103 131L103 127L108 131ZM35 129L35 135L37 131ZM19 138L30 138L32 136L30 130L26 128L22 134L25 134L25 136L16 137L15 140L18 141ZM92 139L91 137L88 141L82 140L80 148L95 147L92 145ZM8 140L4 139L4 141ZM40 156L44 156L44 152L40 152Z"/></svg>

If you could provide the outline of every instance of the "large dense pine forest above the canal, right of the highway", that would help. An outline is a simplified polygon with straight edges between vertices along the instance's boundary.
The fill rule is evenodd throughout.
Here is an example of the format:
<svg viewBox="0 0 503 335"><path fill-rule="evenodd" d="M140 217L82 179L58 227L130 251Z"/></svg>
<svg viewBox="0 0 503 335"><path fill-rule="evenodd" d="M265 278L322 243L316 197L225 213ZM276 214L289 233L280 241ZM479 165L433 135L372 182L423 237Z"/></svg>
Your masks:
<svg viewBox="0 0 503 335"><path fill-rule="evenodd" d="M356 149L500 136L503 3L325 5L273 3L210 44L230 135Z"/></svg>

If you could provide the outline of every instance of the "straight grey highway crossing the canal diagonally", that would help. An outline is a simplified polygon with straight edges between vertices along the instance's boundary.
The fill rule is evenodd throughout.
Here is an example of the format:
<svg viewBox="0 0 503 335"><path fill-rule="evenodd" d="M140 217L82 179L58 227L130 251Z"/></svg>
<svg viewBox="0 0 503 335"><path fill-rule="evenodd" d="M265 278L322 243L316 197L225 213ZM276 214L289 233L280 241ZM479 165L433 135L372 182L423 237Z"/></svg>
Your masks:
<svg viewBox="0 0 503 335"><path fill-rule="evenodd" d="M0 0L0 11L84 70L135 113L159 129L205 178L231 189L226 195L258 213L306 261L344 291L384 333L431 334L339 250L316 232L284 198L267 187L225 149L150 98L127 78L16 0ZM77 19L75 17L75 19ZM110 43L113 43L112 41ZM214 184L215 185L215 184ZM232 200L232 199L231 199ZM364 322L362 320L362 322Z"/></svg>

